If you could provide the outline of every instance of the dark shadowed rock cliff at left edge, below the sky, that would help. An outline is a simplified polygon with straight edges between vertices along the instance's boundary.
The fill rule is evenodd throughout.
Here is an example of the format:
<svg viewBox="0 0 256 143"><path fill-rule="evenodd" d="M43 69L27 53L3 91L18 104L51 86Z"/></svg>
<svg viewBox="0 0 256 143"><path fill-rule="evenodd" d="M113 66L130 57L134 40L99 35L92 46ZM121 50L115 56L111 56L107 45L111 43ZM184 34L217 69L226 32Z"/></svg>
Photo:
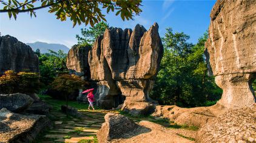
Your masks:
<svg viewBox="0 0 256 143"><path fill-rule="evenodd" d="M10 35L0 36L0 74L6 70L39 72L32 48Z"/></svg>

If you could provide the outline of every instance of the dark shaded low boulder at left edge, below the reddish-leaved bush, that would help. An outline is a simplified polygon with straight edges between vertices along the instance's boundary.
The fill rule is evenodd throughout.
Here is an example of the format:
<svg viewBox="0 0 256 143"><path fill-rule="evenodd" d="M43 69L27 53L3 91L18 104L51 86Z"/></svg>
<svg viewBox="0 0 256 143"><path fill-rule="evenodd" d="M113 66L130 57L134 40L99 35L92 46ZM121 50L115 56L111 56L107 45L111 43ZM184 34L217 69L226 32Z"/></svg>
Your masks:
<svg viewBox="0 0 256 143"><path fill-rule="evenodd" d="M0 95L0 108L7 108L10 111L24 111L33 103L29 95L15 93L11 95Z"/></svg>

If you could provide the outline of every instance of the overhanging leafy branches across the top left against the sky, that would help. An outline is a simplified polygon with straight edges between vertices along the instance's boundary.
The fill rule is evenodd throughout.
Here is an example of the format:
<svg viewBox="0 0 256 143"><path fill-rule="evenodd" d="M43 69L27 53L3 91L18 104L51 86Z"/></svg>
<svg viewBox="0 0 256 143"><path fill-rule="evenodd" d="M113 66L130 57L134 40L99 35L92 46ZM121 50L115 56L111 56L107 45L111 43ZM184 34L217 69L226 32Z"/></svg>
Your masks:
<svg viewBox="0 0 256 143"><path fill-rule="evenodd" d="M61 21L70 18L73 26L83 22L86 25L90 23L93 27L99 21L106 21L106 15L101 12L103 9L106 9L107 13L110 10L116 12L123 21L141 13L141 0L0 0L0 4L0 13L8 13L9 18L13 16L15 19L23 12L36 17L35 10L49 7L49 13L55 13L56 18Z"/></svg>

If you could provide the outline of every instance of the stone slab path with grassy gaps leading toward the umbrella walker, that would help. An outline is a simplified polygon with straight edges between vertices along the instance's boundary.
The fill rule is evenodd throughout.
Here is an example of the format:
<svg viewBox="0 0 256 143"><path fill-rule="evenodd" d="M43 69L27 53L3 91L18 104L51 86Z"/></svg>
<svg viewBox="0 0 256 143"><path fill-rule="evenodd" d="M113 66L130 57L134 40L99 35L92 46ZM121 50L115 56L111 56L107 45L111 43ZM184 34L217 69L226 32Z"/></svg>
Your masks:
<svg viewBox="0 0 256 143"><path fill-rule="evenodd" d="M52 130L42 136L41 141L50 142L93 142L96 132L104 122L107 113L117 113L108 110L83 110L79 111L83 118L68 117L61 111L52 110L51 115L55 116L55 125Z"/></svg>

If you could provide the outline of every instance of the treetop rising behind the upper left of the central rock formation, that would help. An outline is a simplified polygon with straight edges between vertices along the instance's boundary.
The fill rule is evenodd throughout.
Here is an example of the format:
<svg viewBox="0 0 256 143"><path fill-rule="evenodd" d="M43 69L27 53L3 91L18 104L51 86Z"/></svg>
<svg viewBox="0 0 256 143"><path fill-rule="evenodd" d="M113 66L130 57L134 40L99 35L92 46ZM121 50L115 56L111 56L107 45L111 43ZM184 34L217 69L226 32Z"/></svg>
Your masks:
<svg viewBox="0 0 256 143"><path fill-rule="evenodd" d="M95 39L99 35L103 35L106 28L109 28L109 25L106 22L99 22L93 27L89 29L81 28L81 37L76 35L76 39L78 39L78 44L89 44L92 45Z"/></svg>

